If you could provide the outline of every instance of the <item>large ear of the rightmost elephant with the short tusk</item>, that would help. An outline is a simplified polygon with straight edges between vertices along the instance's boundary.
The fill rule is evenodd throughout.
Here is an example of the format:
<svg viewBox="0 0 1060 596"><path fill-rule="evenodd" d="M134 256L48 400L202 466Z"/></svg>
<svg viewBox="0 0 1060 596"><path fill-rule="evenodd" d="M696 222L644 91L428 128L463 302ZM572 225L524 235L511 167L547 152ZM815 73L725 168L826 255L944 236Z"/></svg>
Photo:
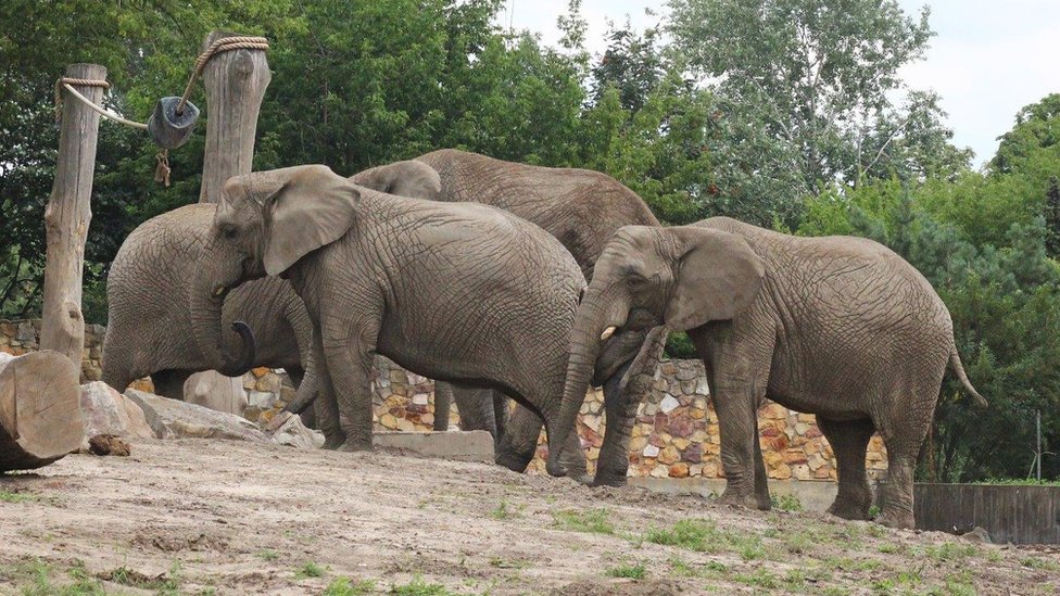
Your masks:
<svg viewBox="0 0 1060 596"><path fill-rule="evenodd" d="M766 264L746 240L691 226L664 233L678 241L673 291L662 315L667 327L686 331L712 320L728 320L755 302Z"/></svg>

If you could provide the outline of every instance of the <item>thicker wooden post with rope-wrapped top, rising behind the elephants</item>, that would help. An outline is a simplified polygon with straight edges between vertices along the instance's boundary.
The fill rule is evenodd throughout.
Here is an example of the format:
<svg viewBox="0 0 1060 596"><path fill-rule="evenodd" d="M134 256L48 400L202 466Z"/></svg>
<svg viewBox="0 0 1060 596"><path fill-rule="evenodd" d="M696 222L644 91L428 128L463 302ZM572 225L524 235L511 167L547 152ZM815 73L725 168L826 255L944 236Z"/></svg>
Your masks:
<svg viewBox="0 0 1060 596"><path fill-rule="evenodd" d="M214 31L214 41L237 34ZM206 150L203 156L200 203L216 203L225 180L250 174L254 135L265 88L273 78L263 50L231 50L214 54L202 73L206 88Z"/></svg>

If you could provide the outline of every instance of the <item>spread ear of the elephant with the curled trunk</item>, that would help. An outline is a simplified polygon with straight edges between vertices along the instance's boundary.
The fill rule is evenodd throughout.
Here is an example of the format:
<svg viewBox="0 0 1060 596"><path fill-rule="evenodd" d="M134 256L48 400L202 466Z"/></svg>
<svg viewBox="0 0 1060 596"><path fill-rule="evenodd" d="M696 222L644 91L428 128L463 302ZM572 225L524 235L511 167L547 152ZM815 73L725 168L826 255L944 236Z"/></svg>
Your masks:
<svg viewBox="0 0 1060 596"><path fill-rule="evenodd" d="M350 229L361 192L327 166L277 169L263 207L265 272L278 276L306 254L335 242Z"/></svg>

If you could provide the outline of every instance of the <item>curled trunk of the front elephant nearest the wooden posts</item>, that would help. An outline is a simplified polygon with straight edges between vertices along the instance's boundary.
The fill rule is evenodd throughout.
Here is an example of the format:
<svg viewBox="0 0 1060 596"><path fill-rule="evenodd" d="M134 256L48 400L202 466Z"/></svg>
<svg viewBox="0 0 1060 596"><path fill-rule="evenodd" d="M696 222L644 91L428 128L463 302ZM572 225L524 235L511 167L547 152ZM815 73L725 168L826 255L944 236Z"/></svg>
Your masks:
<svg viewBox="0 0 1060 596"><path fill-rule="evenodd" d="M195 281L191 287L190 309L191 327L194 332L195 344L213 368L227 377L239 377L254 366L256 357L254 334L243 321L232 322L232 330L239 334L242 351L236 358L225 350L224 333L222 332L222 310L225 295L231 283L217 283L218 279L212 275L214 267L211 263L224 261L212 255L209 249L203 252L205 257L200 263L195 274Z"/></svg>

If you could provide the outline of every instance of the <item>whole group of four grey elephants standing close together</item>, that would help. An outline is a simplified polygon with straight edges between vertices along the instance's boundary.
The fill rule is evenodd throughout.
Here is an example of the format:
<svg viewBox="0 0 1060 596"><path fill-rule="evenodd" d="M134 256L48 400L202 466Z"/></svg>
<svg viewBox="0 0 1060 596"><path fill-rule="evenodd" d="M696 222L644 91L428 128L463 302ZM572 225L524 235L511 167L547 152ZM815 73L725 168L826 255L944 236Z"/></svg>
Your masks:
<svg viewBox="0 0 1060 596"><path fill-rule="evenodd" d="M913 524L912 472L946 368L985 405L945 305L875 242L724 217L661 227L603 174L456 150L351 178L319 165L234 177L217 205L137 228L108 300L113 386L150 375L180 397L194 371L282 367L300 381L289 407L315 415L327 447L366 449L382 354L438 381L440 419L452 395L465 424L491 430L497 464L525 470L543 424L551 474L608 485L626 482L666 330L687 331L718 413L722 502L769 507L756 420L769 397L817 415L840 517L869 517L879 432L878 521L899 528ZM607 424L593 479L571 432L590 384L604 388Z"/></svg>

